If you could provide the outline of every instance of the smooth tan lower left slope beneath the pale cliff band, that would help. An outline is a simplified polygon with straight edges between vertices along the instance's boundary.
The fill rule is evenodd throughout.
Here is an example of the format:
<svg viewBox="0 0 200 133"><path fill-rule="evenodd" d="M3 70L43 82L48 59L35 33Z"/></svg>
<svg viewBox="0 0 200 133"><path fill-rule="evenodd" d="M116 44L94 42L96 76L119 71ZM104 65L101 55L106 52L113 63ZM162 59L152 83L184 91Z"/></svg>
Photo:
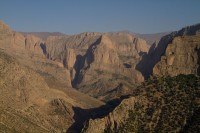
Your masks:
<svg viewBox="0 0 200 133"><path fill-rule="evenodd" d="M33 70L0 51L0 132L61 132L74 122L73 107L103 105L73 90L52 89Z"/></svg>

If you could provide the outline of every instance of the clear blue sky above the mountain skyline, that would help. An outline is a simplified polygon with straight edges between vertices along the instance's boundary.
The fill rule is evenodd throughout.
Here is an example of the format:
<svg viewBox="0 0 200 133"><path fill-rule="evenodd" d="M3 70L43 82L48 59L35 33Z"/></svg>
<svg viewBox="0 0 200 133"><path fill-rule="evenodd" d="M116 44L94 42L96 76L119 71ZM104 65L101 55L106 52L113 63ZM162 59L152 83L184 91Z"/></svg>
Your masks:
<svg viewBox="0 0 200 133"><path fill-rule="evenodd" d="M16 31L174 31L200 23L200 0L1 0L0 19Z"/></svg>

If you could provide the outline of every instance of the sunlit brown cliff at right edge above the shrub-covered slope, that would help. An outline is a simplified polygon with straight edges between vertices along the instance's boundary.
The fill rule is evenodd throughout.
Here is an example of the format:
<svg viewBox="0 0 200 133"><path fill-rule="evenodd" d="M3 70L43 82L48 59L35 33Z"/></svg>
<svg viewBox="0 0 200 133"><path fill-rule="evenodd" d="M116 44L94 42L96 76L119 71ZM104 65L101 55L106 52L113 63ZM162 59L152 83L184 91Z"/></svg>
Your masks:
<svg viewBox="0 0 200 133"><path fill-rule="evenodd" d="M157 76L199 73L200 35L175 37L153 68Z"/></svg>

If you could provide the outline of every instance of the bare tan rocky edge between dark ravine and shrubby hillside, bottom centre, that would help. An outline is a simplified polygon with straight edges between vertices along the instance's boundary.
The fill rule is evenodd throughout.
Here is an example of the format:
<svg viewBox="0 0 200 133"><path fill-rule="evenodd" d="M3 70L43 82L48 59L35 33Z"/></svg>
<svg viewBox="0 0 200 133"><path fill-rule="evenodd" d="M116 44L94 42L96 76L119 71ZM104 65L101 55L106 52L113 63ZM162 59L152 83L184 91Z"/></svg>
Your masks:
<svg viewBox="0 0 200 133"><path fill-rule="evenodd" d="M135 109L135 103L146 103L146 99L143 97L136 98L131 97L122 101L111 113L106 117L100 119L90 119L86 124L83 132L85 133L102 133L104 131L119 131L122 122L125 122L129 118L129 111ZM97 126L98 125L98 126Z"/></svg>

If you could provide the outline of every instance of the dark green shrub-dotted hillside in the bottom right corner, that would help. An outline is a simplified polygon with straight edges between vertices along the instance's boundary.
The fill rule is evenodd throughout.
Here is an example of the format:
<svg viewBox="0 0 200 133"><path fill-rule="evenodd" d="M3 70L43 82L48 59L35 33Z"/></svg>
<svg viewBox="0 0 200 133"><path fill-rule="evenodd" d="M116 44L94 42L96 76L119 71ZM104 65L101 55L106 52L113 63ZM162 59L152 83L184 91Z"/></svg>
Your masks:
<svg viewBox="0 0 200 133"><path fill-rule="evenodd" d="M120 124L120 133L199 131L199 77L151 78L134 90L133 96L145 97L147 105L144 101L134 104L128 119Z"/></svg>

